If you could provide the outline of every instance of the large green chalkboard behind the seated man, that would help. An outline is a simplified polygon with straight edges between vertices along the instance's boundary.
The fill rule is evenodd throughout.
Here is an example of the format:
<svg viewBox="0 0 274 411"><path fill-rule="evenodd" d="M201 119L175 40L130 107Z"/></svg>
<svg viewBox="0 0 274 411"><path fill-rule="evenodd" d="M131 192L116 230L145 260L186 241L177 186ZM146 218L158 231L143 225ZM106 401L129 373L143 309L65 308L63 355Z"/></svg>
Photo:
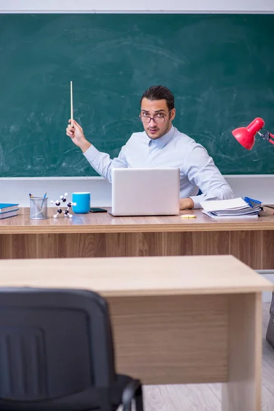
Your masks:
<svg viewBox="0 0 274 411"><path fill-rule="evenodd" d="M274 132L274 15L8 14L0 16L0 176L96 175L66 136L75 119L113 157L138 120L142 92L175 95L175 126L224 174L274 172L274 147L246 151L234 127L256 116Z"/></svg>

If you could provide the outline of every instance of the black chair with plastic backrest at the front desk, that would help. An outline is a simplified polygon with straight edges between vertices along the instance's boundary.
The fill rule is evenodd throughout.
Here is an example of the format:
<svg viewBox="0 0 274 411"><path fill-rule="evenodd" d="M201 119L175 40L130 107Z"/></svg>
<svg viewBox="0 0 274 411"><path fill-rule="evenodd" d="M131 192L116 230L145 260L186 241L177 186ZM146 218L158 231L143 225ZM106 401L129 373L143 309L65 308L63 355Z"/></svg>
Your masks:
<svg viewBox="0 0 274 411"><path fill-rule="evenodd" d="M143 411L117 375L108 303L95 292L0 288L0 410Z"/></svg>

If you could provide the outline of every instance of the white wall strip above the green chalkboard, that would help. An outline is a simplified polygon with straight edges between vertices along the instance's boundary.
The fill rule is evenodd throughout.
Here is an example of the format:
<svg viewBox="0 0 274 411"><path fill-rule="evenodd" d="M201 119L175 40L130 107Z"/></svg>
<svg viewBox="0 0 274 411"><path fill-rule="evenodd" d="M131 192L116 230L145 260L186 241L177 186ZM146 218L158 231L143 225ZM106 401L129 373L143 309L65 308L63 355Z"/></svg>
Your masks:
<svg viewBox="0 0 274 411"><path fill-rule="evenodd" d="M273 0L0 0L0 12L274 12Z"/></svg>

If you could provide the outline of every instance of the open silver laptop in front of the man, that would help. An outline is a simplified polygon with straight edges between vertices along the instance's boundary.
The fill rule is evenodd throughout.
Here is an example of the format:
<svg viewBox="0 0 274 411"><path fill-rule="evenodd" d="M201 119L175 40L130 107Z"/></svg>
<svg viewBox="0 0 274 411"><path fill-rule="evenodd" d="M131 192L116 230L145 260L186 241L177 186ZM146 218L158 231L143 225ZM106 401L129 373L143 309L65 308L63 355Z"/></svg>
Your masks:
<svg viewBox="0 0 274 411"><path fill-rule="evenodd" d="M113 169L114 216L179 214L179 169Z"/></svg>

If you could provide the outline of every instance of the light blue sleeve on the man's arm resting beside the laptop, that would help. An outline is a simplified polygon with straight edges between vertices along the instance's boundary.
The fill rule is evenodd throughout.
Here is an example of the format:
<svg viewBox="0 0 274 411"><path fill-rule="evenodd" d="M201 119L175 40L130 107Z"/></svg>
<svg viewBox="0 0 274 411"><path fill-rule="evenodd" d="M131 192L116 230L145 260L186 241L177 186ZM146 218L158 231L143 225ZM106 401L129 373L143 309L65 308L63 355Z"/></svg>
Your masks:
<svg viewBox="0 0 274 411"><path fill-rule="evenodd" d="M201 201L232 199L234 197L232 188L215 166L208 151L197 143L193 143L186 153L184 173L188 176L189 181L203 193L190 197L194 203L194 208L201 208Z"/></svg>

